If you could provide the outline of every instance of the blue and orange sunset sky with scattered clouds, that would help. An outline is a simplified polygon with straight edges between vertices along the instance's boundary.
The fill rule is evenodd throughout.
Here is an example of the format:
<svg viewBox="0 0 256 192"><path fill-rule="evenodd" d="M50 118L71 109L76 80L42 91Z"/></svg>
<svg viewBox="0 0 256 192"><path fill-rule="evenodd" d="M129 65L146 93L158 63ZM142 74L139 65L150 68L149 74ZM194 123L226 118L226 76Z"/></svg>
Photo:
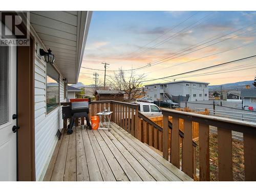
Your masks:
<svg viewBox="0 0 256 192"><path fill-rule="evenodd" d="M113 76L108 70L130 70L151 63L151 67L135 71L135 76L145 74L143 80L150 80L248 57L256 53L255 19L256 12L242 11L94 11L82 67L103 70L101 62L107 62L106 74ZM210 85L253 80L255 61L144 84L174 78ZM103 81L103 71L83 68L78 81L93 84L94 72ZM129 72L125 74L129 76Z"/></svg>

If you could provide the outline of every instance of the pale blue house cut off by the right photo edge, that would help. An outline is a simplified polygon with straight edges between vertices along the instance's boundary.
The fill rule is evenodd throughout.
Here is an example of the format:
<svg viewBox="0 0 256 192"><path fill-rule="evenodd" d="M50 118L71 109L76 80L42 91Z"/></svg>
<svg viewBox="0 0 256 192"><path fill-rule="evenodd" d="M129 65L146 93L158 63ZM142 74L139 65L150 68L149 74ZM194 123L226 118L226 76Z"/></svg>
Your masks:
<svg viewBox="0 0 256 192"><path fill-rule="evenodd" d="M256 110L256 89L245 89L241 91L243 109L248 110L251 106Z"/></svg>

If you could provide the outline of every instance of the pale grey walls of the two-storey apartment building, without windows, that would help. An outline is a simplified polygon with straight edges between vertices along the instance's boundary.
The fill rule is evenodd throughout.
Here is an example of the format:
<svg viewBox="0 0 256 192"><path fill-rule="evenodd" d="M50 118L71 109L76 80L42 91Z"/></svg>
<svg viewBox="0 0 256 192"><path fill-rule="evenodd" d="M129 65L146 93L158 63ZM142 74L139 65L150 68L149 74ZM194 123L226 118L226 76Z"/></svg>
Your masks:
<svg viewBox="0 0 256 192"><path fill-rule="evenodd" d="M189 84L189 87L186 86L186 83ZM196 86L194 87L193 84ZM200 87L201 84L201 87ZM209 100L209 88L208 84L203 83L193 83L193 82L177 82L177 83L168 83L168 88L163 88L162 85L157 84L157 89L154 89L154 85L152 86L145 86L147 89L146 95L150 96L153 100L157 100L155 98L155 95L157 95L157 98L163 99L161 95L163 95L163 92L168 93L170 96L186 96L190 95L189 101L203 101L203 100ZM207 87L205 87L205 85ZM196 94L196 97L194 97L194 94ZM202 96L200 97L200 94ZM207 96L205 96L207 94Z"/></svg>

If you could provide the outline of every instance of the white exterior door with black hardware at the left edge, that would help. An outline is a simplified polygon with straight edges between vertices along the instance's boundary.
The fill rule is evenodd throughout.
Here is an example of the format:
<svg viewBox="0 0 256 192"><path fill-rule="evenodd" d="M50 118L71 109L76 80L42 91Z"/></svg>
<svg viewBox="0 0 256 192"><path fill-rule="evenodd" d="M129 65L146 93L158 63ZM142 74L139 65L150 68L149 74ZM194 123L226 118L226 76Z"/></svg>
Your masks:
<svg viewBox="0 0 256 192"><path fill-rule="evenodd" d="M0 47L0 105L0 181L16 181L16 47Z"/></svg>

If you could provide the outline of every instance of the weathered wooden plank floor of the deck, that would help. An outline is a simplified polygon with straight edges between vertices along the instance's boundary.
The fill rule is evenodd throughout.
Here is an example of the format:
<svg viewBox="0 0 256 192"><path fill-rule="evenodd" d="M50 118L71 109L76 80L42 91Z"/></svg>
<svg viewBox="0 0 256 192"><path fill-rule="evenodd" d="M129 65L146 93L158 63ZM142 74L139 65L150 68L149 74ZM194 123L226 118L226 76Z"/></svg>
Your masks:
<svg viewBox="0 0 256 192"><path fill-rule="evenodd" d="M111 131L63 133L44 181L191 181L115 123Z"/></svg>

